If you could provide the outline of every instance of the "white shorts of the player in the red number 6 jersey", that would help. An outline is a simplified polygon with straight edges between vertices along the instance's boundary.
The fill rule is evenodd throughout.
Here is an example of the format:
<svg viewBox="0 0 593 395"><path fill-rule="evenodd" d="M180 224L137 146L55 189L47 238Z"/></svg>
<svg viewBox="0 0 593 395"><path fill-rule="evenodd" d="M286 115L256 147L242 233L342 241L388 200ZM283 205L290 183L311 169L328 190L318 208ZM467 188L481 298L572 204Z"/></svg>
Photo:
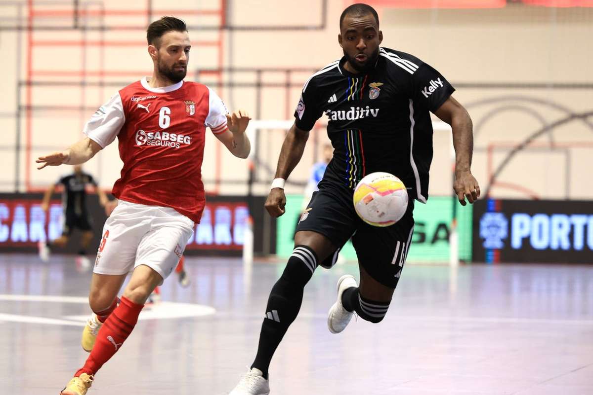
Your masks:
<svg viewBox="0 0 593 395"><path fill-rule="evenodd" d="M170 207L119 200L105 225L93 273L126 274L146 265L166 279L177 266L194 223Z"/></svg>

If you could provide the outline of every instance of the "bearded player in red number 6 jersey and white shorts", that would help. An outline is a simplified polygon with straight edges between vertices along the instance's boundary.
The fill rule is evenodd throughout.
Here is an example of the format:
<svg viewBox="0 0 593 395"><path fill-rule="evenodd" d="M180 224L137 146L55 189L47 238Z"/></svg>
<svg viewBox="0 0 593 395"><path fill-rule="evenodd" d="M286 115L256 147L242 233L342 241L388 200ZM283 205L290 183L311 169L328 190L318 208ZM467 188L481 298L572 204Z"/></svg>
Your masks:
<svg viewBox="0 0 593 395"><path fill-rule="evenodd" d="M113 186L119 203L105 222L91 281L96 319L83 336L91 354L62 395L87 393L94 375L132 332L152 290L177 266L204 209L200 169L206 127L234 156L246 158L250 151L247 112L229 115L212 89L183 80L191 47L186 24L163 17L149 25L146 38L152 77L126 86L101 106L85 125L86 138L37 160L39 169L81 164L117 137L123 161Z"/></svg>

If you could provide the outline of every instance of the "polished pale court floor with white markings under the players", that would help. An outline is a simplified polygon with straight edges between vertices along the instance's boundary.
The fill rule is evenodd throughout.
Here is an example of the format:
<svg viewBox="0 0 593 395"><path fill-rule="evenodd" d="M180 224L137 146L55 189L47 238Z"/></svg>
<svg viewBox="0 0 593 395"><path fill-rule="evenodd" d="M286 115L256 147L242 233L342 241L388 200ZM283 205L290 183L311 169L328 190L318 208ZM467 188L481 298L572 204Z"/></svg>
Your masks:
<svg viewBox="0 0 593 395"><path fill-rule="evenodd" d="M256 352L282 264L188 258L162 302L95 377L93 394L227 394ZM336 280L318 268L270 367L282 395L591 395L593 266L407 264L383 322L327 330ZM88 355L79 338L89 273L0 255L0 394L58 394Z"/></svg>

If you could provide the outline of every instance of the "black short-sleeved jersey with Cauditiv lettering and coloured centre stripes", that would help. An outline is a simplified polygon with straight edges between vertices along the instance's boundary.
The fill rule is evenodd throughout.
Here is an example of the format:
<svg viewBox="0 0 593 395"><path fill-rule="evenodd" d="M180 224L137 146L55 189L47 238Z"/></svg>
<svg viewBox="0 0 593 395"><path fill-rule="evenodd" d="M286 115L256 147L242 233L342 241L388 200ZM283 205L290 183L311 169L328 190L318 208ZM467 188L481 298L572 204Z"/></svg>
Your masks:
<svg viewBox="0 0 593 395"><path fill-rule="evenodd" d="M328 64L305 83L295 124L309 131L325 114L334 148L323 181L353 189L366 174L399 177L410 198L428 199L432 122L454 88L416 57L380 48L375 67L354 75L346 57Z"/></svg>

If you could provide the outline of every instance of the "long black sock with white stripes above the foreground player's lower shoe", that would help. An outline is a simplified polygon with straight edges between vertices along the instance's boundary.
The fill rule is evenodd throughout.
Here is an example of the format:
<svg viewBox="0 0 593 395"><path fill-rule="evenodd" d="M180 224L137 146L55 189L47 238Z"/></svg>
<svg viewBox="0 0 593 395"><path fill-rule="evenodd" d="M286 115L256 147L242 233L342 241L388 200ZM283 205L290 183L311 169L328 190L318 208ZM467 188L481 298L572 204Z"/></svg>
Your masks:
<svg viewBox="0 0 593 395"><path fill-rule="evenodd" d="M252 368L261 370L266 380L272 356L288 327L297 318L301 309L303 289L316 267L315 252L307 246L297 245L282 276L272 287L267 300L256 359L251 365Z"/></svg>

